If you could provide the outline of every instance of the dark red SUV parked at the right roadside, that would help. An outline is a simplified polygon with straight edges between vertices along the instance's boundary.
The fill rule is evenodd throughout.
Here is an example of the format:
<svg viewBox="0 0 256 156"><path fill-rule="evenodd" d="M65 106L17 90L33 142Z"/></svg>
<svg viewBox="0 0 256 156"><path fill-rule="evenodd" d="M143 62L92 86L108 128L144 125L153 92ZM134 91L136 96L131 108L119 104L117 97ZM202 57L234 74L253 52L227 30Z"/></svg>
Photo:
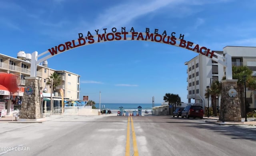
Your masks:
<svg viewBox="0 0 256 156"><path fill-rule="evenodd" d="M202 106L192 106L188 105L182 111L182 118L203 118L204 110Z"/></svg>

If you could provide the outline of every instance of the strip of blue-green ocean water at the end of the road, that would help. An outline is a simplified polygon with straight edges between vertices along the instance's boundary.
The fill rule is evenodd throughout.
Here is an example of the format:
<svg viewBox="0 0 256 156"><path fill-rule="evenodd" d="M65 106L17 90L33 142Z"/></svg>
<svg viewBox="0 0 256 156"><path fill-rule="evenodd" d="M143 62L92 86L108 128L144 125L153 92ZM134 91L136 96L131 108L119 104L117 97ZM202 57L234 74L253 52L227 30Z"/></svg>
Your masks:
<svg viewBox="0 0 256 156"><path fill-rule="evenodd" d="M123 110L138 110L138 106L141 106L142 110L151 110L152 104L110 104L110 103L101 103L95 104L97 108L107 109L107 110L119 110L119 107L123 107ZM161 106L161 104L154 104L154 106Z"/></svg>

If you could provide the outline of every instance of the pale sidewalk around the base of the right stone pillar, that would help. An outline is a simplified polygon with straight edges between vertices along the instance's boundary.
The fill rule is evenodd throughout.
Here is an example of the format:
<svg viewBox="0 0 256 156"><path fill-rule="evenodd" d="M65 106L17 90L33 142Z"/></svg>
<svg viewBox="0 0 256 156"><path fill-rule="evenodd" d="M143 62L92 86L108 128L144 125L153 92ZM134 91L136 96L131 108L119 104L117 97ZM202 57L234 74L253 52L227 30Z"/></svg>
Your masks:
<svg viewBox="0 0 256 156"><path fill-rule="evenodd" d="M211 123L211 124L218 124L218 125L250 125L250 126L256 126L256 118L247 118L247 122L245 122L245 118L242 118L241 122L222 122L219 121L218 116L204 116L205 122Z"/></svg>

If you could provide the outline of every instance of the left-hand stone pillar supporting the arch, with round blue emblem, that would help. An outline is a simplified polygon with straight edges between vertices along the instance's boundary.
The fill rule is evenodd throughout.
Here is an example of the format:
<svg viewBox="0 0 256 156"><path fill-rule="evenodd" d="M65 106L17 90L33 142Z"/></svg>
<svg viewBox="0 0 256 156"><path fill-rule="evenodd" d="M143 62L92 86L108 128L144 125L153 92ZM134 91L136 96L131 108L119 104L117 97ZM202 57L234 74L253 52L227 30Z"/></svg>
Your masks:
<svg viewBox="0 0 256 156"><path fill-rule="evenodd" d="M25 77L26 86L22 98L20 118L39 119L41 118L42 106L40 97L40 83L38 77Z"/></svg>

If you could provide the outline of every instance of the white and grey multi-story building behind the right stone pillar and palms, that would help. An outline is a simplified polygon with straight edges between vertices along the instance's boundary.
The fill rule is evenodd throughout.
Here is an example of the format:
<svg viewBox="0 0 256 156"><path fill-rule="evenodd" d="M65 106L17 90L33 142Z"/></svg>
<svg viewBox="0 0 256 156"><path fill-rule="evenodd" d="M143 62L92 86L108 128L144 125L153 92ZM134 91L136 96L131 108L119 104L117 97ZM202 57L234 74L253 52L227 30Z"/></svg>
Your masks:
<svg viewBox="0 0 256 156"><path fill-rule="evenodd" d="M256 76L256 47L226 46L223 51L214 52L221 56L229 54L232 57L232 65L247 66L253 71L252 76ZM207 86L215 80L221 81L223 76L226 76L226 68L201 54L185 62L185 65L188 66L188 102L194 99L194 102L203 103L207 107L208 98L205 98ZM217 106L220 106L220 98L217 97ZM246 98L250 103L250 108L256 109L256 92L246 88ZM212 106L210 97L209 106Z"/></svg>

